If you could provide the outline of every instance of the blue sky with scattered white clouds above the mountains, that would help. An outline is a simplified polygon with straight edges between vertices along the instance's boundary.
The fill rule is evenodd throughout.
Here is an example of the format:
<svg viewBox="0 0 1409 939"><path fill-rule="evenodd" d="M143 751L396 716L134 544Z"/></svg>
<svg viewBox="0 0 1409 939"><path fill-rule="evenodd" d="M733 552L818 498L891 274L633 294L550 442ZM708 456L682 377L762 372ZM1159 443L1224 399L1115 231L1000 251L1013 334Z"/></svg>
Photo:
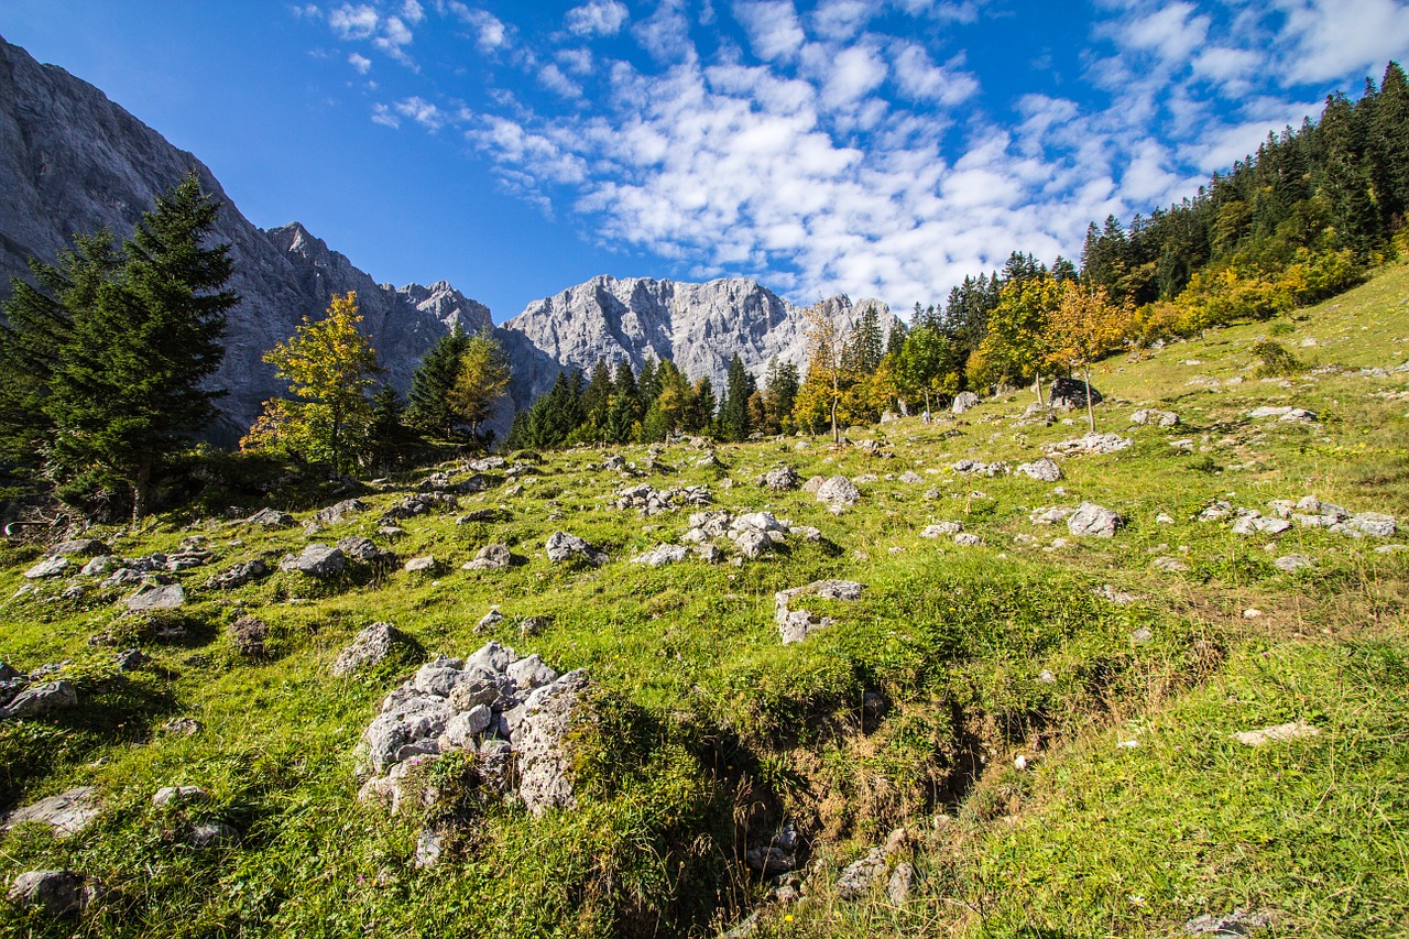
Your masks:
<svg viewBox="0 0 1409 939"><path fill-rule="evenodd" d="M1409 63L1409 0L6 0L255 224L496 321L597 274L943 300Z"/></svg>

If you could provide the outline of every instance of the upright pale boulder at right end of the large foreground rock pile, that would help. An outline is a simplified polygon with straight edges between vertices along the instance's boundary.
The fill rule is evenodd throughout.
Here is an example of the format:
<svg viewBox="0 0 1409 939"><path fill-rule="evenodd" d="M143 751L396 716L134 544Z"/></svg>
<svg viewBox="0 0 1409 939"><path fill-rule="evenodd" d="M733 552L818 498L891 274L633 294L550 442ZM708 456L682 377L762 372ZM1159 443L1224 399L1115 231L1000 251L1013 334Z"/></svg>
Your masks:
<svg viewBox="0 0 1409 939"><path fill-rule="evenodd" d="M566 737L588 685L585 671L569 671L524 702L514 750L519 753L519 797L534 815L578 804L568 775Z"/></svg>

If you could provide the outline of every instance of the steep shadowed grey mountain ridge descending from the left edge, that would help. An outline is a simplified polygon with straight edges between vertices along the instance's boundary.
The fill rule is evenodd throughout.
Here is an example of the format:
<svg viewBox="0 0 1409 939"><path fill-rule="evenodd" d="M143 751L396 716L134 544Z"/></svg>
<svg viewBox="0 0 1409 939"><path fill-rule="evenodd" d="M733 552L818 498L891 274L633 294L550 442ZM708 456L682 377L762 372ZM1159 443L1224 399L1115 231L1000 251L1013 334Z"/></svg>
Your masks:
<svg viewBox="0 0 1409 939"><path fill-rule="evenodd" d="M356 290L364 329L403 392L426 350L455 323L466 331L492 329L489 309L448 283L397 290L297 223L258 228L194 155L92 85L0 39L0 296L8 295L10 278L28 275L27 258L54 261L73 233L130 234L158 193L192 171L224 202L213 237L231 245L230 286L242 297L211 379L230 392L220 402L216 440L237 440L261 403L286 389L262 355L293 336L304 316L320 319L334 293Z"/></svg>

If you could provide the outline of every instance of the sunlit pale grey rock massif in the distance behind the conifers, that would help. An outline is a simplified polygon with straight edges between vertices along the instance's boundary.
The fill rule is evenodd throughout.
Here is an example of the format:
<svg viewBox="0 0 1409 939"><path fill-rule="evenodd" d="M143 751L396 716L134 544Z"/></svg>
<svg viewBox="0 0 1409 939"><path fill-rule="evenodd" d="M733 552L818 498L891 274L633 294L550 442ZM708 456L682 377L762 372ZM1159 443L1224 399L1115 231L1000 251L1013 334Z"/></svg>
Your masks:
<svg viewBox="0 0 1409 939"><path fill-rule="evenodd" d="M867 306L879 309L882 329L889 331L895 317L879 300L852 305L844 295L823 300L843 330L850 330ZM559 368L589 372L599 360L627 360L640 368L647 357L671 358L690 378L707 375L723 389L728 361L737 352L762 379L775 355L802 365L805 326L802 307L747 278L682 283L597 276L530 303L500 334L516 360L511 393L524 406L552 386Z"/></svg>

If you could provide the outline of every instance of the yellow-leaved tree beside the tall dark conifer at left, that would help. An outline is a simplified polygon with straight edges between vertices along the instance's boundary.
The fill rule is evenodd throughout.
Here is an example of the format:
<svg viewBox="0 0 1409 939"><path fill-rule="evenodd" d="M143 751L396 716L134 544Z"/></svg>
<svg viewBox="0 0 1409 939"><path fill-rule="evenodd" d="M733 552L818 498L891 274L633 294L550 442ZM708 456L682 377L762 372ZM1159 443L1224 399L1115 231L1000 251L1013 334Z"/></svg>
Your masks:
<svg viewBox="0 0 1409 939"><path fill-rule="evenodd" d="M382 371L356 309L356 293L334 296L327 317L303 317L293 338L265 352L293 398L266 400L241 450L283 451L334 472L355 465L372 423L372 375Z"/></svg>

